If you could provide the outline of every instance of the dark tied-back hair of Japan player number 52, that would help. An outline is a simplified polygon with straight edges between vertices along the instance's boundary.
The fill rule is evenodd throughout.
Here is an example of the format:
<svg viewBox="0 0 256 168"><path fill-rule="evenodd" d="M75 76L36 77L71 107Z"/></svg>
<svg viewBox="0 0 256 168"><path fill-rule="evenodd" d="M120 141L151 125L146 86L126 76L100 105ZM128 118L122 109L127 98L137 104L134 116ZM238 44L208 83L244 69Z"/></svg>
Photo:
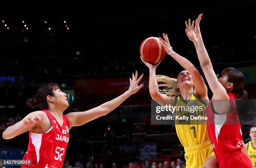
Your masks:
<svg viewBox="0 0 256 168"><path fill-rule="evenodd" d="M46 100L47 96L54 96L54 90L59 88L59 85L56 83L49 83L42 86L37 90L36 95L34 95L33 98L29 98L27 100L27 105L31 108L39 107L41 110L48 109L49 105Z"/></svg>

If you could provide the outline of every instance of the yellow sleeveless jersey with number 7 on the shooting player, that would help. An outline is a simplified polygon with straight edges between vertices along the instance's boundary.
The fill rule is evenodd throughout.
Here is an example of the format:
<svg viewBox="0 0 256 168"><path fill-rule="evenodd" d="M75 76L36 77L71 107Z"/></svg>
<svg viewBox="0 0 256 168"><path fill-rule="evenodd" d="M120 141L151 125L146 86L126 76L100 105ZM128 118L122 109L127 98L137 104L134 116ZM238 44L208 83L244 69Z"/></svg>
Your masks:
<svg viewBox="0 0 256 168"><path fill-rule="evenodd" d="M189 100L177 97L174 105L175 128L182 145L189 147L209 140L205 120L207 104L192 93Z"/></svg>

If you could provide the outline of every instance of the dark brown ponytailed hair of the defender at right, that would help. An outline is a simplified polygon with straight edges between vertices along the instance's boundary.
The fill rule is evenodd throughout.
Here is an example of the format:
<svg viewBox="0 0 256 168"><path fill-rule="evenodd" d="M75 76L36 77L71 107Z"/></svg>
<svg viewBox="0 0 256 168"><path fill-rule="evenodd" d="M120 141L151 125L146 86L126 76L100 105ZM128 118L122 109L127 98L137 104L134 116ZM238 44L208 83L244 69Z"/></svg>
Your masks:
<svg viewBox="0 0 256 168"><path fill-rule="evenodd" d="M235 68L225 68L221 75L226 75L228 77L228 82L233 83L233 90L231 93L236 94L237 100L246 100L248 97L247 92L243 89L245 84L245 77L243 73L236 70Z"/></svg>

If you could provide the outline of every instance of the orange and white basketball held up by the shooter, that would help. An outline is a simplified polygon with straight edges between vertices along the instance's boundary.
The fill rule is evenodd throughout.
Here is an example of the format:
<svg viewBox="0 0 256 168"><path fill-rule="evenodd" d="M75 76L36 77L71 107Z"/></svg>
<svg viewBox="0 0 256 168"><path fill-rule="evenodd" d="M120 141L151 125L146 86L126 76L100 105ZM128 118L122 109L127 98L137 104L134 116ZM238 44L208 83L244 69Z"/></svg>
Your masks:
<svg viewBox="0 0 256 168"><path fill-rule="evenodd" d="M161 46L159 38L150 37L141 43L140 54L146 62L156 64L164 59L166 50Z"/></svg>

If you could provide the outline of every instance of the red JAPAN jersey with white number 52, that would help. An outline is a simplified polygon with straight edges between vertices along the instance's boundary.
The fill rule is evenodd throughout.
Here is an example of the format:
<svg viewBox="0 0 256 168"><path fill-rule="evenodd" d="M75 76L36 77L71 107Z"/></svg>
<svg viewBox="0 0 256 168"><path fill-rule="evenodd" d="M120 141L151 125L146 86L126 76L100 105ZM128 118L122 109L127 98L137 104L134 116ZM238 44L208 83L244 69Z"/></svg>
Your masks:
<svg viewBox="0 0 256 168"><path fill-rule="evenodd" d="M28 151L23 160L31 159L32 165L23 165L22 168L62 168L69 142L69 119L62 115L64 122L61 127L48 110L43 111L52 127L43 134L29 131Z"/></svg>

